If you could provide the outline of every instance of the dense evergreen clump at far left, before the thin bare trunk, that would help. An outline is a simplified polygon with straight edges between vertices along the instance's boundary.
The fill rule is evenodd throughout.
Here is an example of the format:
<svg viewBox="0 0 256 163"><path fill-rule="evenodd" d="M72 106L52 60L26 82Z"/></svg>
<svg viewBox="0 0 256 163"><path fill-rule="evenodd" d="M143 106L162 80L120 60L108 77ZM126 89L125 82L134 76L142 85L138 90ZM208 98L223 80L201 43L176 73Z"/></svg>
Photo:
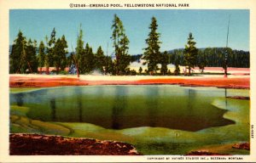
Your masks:
<svg viewBox="0 0 256 163"><path fill-rule="evenodd" d="M50 66L55 66L57 73L64 70L67 66L67 41L64 35L56 39L55 33L54 28L50 39L45 37L45 43L41 41L38 47L36 40L26 42L26 37L19 31L9 54L9 72L37 73L38 67L41 71L44 66L47 73Z"/></svg>

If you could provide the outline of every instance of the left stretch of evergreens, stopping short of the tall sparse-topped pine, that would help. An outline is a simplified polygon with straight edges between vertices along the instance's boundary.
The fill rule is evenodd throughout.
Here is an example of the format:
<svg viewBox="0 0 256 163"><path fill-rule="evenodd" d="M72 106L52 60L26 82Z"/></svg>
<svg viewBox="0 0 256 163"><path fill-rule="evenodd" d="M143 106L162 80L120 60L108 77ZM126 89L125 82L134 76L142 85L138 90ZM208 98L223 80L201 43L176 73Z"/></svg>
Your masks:
<svg viewBox="0 0 256 163"><path fill-rule="evenodd" d="M100 46L96 53L93 53L89 43L81 40L82 31L78 37L78 47L75 48L75 52L67 52L67 41L63 35L61 38L56 39L55 28L50 34L50 38L45 37L44 42L41 41L37 46L37 41L31 39L26 41L26 37L19 31L15 43L12 45L11 53L9 54L9 72L10 73L40 73L43 67L46 69L46 74L49 74L49 67L55 67L55 73L65 73L66 67L70 67L75 64L77 57L78 67L80 74L89 74L93 70L115 74L113 68L113 61L110 56L105 56ZM130 63L129 59L127 59ZM107 66L108 65L108 66ZM112 73L113 72L113 73ZM66 72L67 73L67 72Z"/></svg>

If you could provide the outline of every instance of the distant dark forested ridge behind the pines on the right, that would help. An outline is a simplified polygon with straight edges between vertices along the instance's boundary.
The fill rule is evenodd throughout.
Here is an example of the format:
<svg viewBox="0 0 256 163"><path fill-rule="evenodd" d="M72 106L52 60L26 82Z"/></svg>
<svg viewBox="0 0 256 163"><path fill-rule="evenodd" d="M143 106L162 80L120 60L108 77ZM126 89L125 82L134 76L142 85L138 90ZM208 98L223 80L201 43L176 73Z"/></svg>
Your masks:
<svg viewBox="0 0 256 163"><path fill-rule="evenodd" d="M203 64L205 67L222 67L224 64L224 53L226 48L199 48L197 65ZM132 61L139 61L143 54L131 56ZM169 64L184 65L184 49L178 48L168 51ZM228 53L229 67L250 67L250 53L243 50L231 50Z"/></svg>

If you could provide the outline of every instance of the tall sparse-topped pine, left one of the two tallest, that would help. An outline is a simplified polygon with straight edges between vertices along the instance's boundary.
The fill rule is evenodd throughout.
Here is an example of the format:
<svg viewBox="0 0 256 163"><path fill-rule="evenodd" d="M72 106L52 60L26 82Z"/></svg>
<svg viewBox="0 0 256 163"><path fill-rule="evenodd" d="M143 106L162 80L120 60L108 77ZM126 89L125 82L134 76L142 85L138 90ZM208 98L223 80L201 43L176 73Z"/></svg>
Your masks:
<svg viewBox="0 0 256 163"><path fill-rule="evenodd" d="M115 52L114 69L116 75L125 74L126 68L130 65L131 56L128 54L129 39L125 35L125 28L123 22L119 19L117 14L114 14L112 40Z"/></svg>

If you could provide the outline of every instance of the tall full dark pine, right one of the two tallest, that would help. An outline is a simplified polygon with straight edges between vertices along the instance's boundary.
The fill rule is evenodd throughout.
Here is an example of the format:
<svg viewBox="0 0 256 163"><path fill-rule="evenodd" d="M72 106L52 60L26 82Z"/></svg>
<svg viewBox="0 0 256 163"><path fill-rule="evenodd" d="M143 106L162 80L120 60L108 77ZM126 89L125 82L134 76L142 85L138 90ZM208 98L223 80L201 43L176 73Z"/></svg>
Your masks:
<svg viewBox="0 0 256 163"><path fill-rule="evenodd" d="M146 62L143 65L148 64L148 71L150 73L156 73L159 70L157 64L160 63L160 33L157 32L157 20L155 17L152 17L151 24L149 25L150 32L148 34L148 38L146 39L146 43L148 45L147 48L144 48L145 52L143 55L143 59Z"/></svg>

